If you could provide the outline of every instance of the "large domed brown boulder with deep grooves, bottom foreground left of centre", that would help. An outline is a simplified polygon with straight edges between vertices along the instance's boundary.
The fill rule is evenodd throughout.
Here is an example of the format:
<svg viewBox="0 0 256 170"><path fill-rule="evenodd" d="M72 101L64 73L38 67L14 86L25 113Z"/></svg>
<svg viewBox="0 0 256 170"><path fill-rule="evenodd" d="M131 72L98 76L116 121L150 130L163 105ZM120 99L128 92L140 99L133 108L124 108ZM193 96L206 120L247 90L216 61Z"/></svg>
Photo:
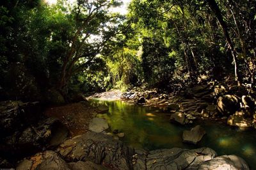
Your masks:
<svg viewBox="0 0 256 170"><path fill-rule="evenodd" d="M109 135L87 132L68 139L58 148L65 160L91 161L112 169L132 169L134 150Z"/></svg>

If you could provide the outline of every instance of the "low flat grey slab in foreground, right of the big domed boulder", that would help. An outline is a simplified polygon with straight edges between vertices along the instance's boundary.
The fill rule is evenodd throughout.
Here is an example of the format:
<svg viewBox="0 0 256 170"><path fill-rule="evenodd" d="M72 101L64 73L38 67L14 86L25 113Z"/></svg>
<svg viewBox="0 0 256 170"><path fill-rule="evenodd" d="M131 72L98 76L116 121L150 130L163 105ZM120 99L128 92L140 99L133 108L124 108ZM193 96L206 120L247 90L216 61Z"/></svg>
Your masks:
<svg viewBox="0 0 256 170"><path fill-rule="evenodd" d="M155 150L148 154L146 166L147 169L189 169L215 156L216 152L210 148Z"/></svg>

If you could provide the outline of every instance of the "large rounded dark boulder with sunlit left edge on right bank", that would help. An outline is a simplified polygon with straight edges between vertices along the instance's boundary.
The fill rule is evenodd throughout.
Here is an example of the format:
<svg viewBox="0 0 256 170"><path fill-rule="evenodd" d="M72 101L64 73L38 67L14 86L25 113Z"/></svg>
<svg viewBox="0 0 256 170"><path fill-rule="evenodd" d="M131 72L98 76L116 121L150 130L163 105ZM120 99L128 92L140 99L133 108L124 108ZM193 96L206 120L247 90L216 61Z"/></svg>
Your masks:
<svg viewBox="0 0 256 170"><path fill-rule="evenodd" d="M223 115L234 114L239 109L239 100L235 95L225 95L217 100L217 108Z"/></svg>

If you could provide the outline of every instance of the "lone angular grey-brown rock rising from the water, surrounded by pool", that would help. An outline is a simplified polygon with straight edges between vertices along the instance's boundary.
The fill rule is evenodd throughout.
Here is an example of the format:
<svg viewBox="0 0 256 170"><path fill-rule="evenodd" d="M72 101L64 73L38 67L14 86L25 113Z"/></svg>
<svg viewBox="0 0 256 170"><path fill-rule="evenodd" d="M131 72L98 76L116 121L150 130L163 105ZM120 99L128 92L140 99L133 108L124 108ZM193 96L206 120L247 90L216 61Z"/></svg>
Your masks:
<svg viewBox="0 0 256 170"><path fill-rule="evenodd" d="M201 141L205 134L204 128L200 127L200 125L196 125L196 127L191 128L191 130L184 130L182 139L184 142L196 144Z"/></svg>

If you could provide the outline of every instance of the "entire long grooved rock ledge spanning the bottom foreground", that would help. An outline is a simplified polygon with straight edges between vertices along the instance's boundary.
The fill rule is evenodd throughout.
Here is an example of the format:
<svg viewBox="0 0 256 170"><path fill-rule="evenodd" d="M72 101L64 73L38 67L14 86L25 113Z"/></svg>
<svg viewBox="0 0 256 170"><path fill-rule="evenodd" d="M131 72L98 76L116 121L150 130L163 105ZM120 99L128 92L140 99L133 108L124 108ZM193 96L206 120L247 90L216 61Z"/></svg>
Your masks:
<svg viewBox="0 0 256 170"><path fill-rule="evenodd" d="M58 152L66 161L71 162L68 164L70 169L83 169L88 166L84 164L87 161L90 161L87 162L90 165L88 169L93 169L97 166L95 164L103 164L111 169L212 169L222 167L223 163L237 169L248 167L246 162L233 155L216 157L216 152L210 148L172 148L148 153L129 148L122 141L116 141L106 134L94 132L68 139L61 144ZM229 160L223 162L223 157L228 157ZM96 168L101 169L102 166Z"/></svg>

